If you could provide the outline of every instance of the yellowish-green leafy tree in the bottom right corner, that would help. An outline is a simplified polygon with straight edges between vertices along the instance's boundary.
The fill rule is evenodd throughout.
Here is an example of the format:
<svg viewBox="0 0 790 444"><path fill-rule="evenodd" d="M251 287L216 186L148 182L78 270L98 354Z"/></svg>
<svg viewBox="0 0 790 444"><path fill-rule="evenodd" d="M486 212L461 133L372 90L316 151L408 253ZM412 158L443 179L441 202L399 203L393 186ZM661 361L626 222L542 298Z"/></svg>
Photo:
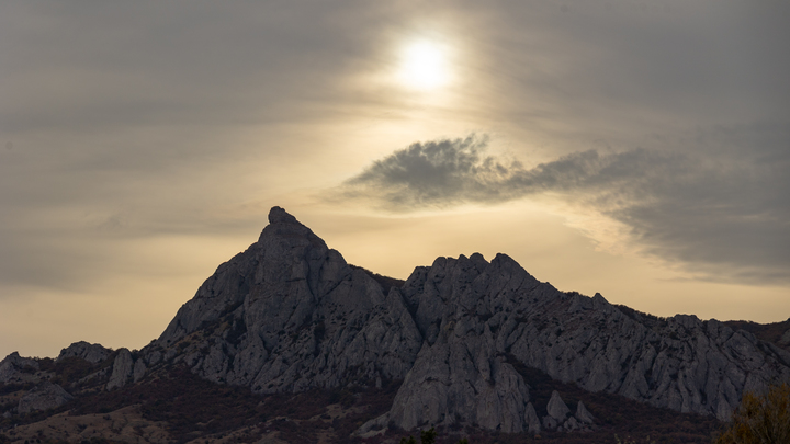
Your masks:
<svg viewBox="0 0 790 444"><path fill-rule="evenodd" d="M763 395L745 392L716 444L790 443L790 385L774 385Z"/></svg>

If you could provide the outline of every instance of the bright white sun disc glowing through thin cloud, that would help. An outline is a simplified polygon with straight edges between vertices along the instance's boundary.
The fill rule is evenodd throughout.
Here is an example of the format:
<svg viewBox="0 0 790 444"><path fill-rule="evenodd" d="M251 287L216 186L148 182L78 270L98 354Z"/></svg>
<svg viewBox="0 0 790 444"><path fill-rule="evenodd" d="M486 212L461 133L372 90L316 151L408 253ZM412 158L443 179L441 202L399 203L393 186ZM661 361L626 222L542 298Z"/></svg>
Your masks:
<svg viewBox="0 0 790 444"><path fill-rule="evenodd" d="M448 52L429 41L411 43L403 49L398 78L405 86L432 90L450 81Z"/></svg>

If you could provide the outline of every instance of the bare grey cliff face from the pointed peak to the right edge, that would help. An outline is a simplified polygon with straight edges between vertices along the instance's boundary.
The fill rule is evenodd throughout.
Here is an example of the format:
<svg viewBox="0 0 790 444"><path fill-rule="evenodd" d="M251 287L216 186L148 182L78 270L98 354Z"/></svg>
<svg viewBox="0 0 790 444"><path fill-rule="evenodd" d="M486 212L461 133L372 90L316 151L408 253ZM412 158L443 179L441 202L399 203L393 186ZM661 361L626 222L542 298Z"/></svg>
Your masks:
<svg viewBox="0 0 790 444"><path fill-rule="evenodd" d="M745 389L790 377L790 354L715 320L658 319L562 293L499 254L439 258L387 294L293 216L219 266L146 350L260 394L403 379L386 424L534 429L529 380L556 379L729 418Z"/></svg>

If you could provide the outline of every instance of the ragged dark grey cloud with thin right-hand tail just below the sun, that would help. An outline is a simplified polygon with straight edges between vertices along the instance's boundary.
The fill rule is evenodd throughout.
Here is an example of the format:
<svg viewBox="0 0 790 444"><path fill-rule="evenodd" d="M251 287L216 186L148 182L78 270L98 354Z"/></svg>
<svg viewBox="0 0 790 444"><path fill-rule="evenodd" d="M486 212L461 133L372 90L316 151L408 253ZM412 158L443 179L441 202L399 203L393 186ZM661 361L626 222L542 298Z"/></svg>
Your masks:
<svg viewBox="0 0 790 444"><path fill-rule="evenodd" d="M380 207L409 212L462 203L497 203L545 191L601 187L635 180L644 163L656 160L645 150L600 156L574 152L526 169L517 160L486 156L488 137L415 143L375 161L346 181L346 198L372 198Z"/></svg>

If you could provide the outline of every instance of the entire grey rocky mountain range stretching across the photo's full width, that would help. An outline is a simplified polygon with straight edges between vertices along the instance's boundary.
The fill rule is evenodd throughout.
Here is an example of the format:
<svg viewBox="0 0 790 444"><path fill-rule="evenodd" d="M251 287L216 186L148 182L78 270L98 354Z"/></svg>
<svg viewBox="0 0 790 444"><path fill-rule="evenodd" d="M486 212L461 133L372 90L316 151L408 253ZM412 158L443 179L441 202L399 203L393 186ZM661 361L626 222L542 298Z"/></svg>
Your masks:
<svg viewBox="0 0 790 444"><path fill-rule="evenodd" d="M11 420L93 397L121 411L135 396L145 408L154 387L168 390L161 380L190 380L266 402L329 394L327 405L343 396L353 405L363 392L388 394L353 413L347 432L360 437L431 425L591 433L608 421L601 399L726 420L744 390L790 379L790 352L775 342L716 320L657 318L600 294L563 293L505 254L439 258L405 282L380 276L274 207L258 241L219 265L143 350L76 343L54 361L9 355L0 395L19 399L0 396L0 410Z"/></svg>

